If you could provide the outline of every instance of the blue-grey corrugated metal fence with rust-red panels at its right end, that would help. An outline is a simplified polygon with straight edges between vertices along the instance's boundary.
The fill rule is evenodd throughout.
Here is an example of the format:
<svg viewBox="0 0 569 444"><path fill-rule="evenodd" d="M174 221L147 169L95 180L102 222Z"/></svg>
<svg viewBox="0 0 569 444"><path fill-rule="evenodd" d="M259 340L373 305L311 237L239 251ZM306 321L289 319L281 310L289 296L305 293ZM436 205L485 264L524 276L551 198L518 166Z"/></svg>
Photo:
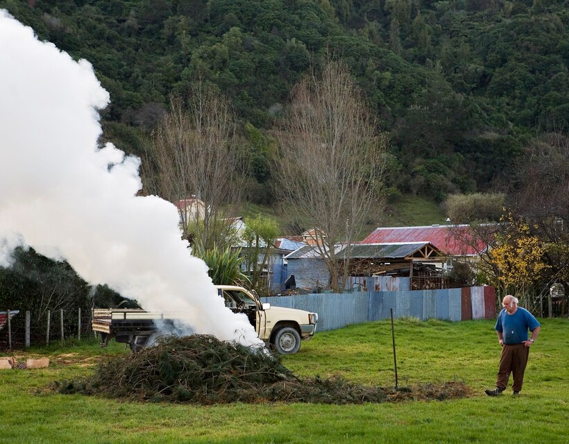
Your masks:
<svg viewBox="0 0 569 444"><path fill-rule="evenodd" d="M279 307L316 311L318 330L335 330L349 324L380 321L391 316L448 321L493 319L496 316L494 287L464 289L354 291L261 298Z"/></svg>

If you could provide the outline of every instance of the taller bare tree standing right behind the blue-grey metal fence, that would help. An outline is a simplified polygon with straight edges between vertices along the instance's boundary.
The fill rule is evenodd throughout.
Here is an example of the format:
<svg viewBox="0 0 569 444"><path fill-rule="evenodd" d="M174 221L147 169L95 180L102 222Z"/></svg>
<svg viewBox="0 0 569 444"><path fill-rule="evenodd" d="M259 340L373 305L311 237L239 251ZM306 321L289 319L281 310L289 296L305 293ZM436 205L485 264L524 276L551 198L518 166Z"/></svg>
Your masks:
<svg viewBox="0 0 569 444"><path fill-rule="evenodd" d="M282 157L276 176L280 197L316 229L316 244L330 271L330 287L346 282L350 244L382 199L387 139L376 133L348 69L328 62L321 76L305 78L292 92ZM335 247L347 246L346 263Z"/></svg>

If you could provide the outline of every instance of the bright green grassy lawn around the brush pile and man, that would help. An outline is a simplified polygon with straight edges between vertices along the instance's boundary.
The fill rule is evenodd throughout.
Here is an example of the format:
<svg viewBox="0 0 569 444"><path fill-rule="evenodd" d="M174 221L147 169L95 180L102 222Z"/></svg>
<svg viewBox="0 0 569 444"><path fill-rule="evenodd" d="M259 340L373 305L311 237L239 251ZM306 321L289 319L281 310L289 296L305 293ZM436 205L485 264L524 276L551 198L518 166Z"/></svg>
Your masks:
<svg viewBox="0 0 569 444"><path fill-rule="evenodd" d="M0 370L0 443L569 443L569 321L541 323L522 395L489 398L500 353L493 321L396 321L399 386L473 388L470 398L443 402L196 407L60 395L46 385L88 375L105 355L126 353L123 345L14 351L51 364ZM299 377L394 386L391 323L320 332L284 364Z"/></svg>

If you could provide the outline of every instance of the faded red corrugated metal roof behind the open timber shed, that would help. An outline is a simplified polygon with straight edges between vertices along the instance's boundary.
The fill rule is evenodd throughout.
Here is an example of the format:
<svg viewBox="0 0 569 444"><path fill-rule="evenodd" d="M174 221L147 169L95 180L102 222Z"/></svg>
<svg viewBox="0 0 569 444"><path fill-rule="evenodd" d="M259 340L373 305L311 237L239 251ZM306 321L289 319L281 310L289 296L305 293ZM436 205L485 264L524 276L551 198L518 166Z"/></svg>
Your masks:
<svg viewBox="0 0 569 444"><path fill-rule="evenodd" d="M395 242L430 242L441 252L453 256L477 255L486 244L468 232L469 225L432 225L425 227L376 228L362 244L393 244ZM460 238L457 239L456 233Z"/></svg>

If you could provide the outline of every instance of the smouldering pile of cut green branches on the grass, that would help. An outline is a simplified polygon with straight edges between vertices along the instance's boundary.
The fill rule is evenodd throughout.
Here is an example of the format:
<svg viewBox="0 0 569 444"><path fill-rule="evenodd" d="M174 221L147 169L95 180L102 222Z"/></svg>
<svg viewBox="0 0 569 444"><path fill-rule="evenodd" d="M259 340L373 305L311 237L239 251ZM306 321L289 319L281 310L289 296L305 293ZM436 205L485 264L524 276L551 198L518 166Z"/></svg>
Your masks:
<svg viewBox="0 0 569 444"><path fill-rule="evenodd" d="M148 402L311 402L362 404L445 400L468 395L460 383L382 388L341 377L298 379L280 359L213 336L170 338L138 353L99 364L94 375L56 383L60 393L83 393Z"/></svg>

